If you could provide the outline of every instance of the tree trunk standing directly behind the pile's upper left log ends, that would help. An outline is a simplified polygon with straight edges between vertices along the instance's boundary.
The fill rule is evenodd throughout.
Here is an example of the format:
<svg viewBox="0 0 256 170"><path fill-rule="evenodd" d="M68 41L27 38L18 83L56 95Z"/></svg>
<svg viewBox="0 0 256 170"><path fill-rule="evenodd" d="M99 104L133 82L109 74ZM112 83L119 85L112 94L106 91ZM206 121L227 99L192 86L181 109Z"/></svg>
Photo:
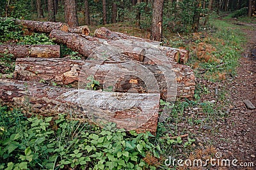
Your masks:
<svg viewBox="0 0 256 170"><path fill-rule="evenodd" d="M65 21L70 27L78 26L76 0L65 0Z"/></svg>

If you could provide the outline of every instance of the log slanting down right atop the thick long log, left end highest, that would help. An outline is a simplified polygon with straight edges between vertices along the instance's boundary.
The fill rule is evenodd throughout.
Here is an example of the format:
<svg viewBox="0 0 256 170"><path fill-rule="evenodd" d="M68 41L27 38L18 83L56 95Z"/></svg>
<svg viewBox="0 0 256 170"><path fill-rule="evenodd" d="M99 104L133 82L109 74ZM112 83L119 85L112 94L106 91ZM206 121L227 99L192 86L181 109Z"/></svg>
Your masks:
<svg viewBox="0 0 256 170"><path fill-rule="evenodd" d="M64 32L59 30L52 30L51 38L57 43L67 45L68 48L79 52L81 55L88 57L88 59L95 60L120 60L119 54L125 53L126 57L134 60L143 61L145 50L137 46L111 46L99 38L88 36L83 38L79 34ZM123 47L123 48L122 48ZM115 55L115 59L113 56Z"/></svg>

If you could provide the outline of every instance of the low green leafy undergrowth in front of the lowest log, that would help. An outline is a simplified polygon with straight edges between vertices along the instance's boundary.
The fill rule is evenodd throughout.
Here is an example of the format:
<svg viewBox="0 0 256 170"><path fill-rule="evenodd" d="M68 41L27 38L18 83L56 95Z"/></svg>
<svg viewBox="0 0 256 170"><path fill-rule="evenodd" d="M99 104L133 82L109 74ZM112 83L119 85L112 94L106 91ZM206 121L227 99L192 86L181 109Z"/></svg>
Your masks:
<svg viewBox="0 0 256 170"><path fill-rule="evenodd" d="M65 115L26 118L0 106L0 127L1 169L156 169L143 159L162 154L149 132L124 132L111 123L101 129Z"/></svg>

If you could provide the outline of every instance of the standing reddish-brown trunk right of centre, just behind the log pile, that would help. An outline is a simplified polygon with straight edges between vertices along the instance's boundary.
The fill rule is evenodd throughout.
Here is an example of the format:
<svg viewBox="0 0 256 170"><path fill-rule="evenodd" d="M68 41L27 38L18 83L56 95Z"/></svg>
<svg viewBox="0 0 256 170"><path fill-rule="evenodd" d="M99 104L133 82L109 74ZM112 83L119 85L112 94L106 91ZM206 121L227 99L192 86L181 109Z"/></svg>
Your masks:
<svg viewBox="0 0 256 170"><path fill-rule="evenodd" d="M150 39L162 41L163 38L163 5L164 0L155 0Z"/></svg>

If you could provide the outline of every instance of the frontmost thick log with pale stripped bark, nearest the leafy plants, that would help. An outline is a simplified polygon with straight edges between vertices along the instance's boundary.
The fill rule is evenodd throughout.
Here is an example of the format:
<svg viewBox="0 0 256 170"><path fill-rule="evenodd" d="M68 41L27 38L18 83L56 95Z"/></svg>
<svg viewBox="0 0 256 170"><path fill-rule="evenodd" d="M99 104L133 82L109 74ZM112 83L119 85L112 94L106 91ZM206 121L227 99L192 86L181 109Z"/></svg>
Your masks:
<svg viewBox="0 0 256 170"><path fill-rule="evenodd" d="M0 80L0 103L22 107L24 113L58 117L72 111L98 125L113 122L126 131L156 134L159 94L131 94L84 89L65 89L42 83ZM32 111L32 112L31 112ZM103 124L102 124L103 123Z"/></svg>

